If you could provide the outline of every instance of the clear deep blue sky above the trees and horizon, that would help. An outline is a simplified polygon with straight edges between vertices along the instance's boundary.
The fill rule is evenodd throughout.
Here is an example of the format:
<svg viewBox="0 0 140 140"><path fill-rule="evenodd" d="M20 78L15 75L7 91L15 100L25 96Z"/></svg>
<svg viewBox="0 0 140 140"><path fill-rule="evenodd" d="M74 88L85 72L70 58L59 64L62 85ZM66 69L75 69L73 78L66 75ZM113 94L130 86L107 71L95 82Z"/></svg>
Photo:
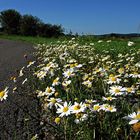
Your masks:
<svg viewBox="0 0 140 140"><path fill-rule="evenodd" d="M140 33L140 0L0 0L5 9L62 24L68 32Z"/></svg>

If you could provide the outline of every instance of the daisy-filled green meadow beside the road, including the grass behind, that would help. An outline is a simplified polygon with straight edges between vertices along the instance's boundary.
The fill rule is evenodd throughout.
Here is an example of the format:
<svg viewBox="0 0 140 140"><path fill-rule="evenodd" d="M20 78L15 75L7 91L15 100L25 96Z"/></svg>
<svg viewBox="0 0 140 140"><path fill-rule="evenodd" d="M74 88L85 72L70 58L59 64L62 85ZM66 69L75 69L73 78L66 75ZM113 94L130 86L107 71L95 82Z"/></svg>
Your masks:
<svg viewBox="0 0 140 140"><path fill-rule="evenodd" d="M44 137L140 138L139 38L9 39L38 43L37 60L21 69L19 76L39 100ZM30 71L27 77L25 69ZM8 101L7 88L0 93L1 100ZM33 138L41 136L34 134Z"/></svg>

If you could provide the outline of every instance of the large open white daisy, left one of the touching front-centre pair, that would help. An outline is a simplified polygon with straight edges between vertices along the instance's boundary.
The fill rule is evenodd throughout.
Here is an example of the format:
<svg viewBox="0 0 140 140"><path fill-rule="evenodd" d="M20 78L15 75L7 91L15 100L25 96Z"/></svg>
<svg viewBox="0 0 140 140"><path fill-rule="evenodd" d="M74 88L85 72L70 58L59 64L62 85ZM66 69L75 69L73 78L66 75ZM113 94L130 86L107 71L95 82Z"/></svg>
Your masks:
<svg viewBox="0 0 140 140"><path fill-rule="evenodd" d="M57 108L56 113L60 114L60 117L68 116L71 114L71 103L64 102L63 105L58 104L59 108Z"/></svg>

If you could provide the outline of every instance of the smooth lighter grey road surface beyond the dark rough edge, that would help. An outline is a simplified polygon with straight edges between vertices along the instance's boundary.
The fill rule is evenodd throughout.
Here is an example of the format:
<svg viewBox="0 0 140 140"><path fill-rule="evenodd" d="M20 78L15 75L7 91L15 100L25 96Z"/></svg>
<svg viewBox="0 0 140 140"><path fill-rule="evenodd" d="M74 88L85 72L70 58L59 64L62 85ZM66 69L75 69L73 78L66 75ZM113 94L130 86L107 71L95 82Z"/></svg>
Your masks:
<svg viewBox="0 0 140 140"><path fill-rule="evenodd" d="M27 64L24 54L32 59L31 44L0 39L0 86L5 86L9 78Z"/></svg>

